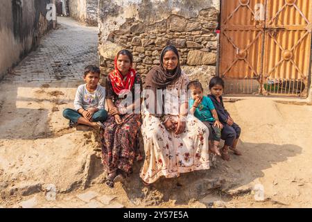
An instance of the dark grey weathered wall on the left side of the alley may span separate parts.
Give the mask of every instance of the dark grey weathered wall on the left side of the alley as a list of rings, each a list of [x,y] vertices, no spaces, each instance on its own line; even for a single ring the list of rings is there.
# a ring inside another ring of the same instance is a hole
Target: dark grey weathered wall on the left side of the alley
[[[51,1],[0,1],[0,79],[53,28],[53,21],[46,20],[46,6]]]

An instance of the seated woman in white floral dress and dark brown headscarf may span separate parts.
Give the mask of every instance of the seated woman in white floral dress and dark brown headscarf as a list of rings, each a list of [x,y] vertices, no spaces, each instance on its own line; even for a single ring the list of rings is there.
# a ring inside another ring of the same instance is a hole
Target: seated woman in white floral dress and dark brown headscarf
[[[166,46],[160,63],[148,72],[144,85],[141,133],[146,157],[140,176],[146,185],[161,176],[209,169],[209,130],[188,115],[189,80],[180,68],[177,49]]]

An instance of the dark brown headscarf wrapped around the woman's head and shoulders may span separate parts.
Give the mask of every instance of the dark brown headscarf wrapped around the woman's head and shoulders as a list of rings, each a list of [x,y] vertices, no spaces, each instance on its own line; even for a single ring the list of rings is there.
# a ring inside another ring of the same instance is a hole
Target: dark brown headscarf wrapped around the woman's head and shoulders
[[[164,55],[167,51],[173,51],[177,55],[177,67],[173,71],[167,71],[164,67]],[[160,65],[155,66],[146,75],[145,87],[152,87],[156,89],[164,89],[167,85],[173,83],[177,78],[181,76],[180,58],[179,53],[175,46],[166,46],[162,49],[162,53],[159,58]]]

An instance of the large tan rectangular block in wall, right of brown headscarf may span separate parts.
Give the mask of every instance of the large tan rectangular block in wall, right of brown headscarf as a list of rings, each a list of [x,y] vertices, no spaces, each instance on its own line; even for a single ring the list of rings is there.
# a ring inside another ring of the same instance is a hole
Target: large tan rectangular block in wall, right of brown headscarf
[[[187,54],[187,65],[213,65],[216,63],[216,53],[192,50]]]

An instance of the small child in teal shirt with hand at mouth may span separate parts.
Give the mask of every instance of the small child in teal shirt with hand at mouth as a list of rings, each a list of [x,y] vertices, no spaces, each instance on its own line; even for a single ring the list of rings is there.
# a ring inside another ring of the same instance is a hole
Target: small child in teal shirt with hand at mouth
[[[202,85],[198,80],[191,81],[187,86],[191,90],[191,98],[189,99],[189,108],[191,114],[202,121],[209,129],[209,151],[216,155],[221,155],[218,150],[218,144],[221,139],[222,123],[218,119],[218,114],[214,108],[214,104],[207,96],[203,96]]]

